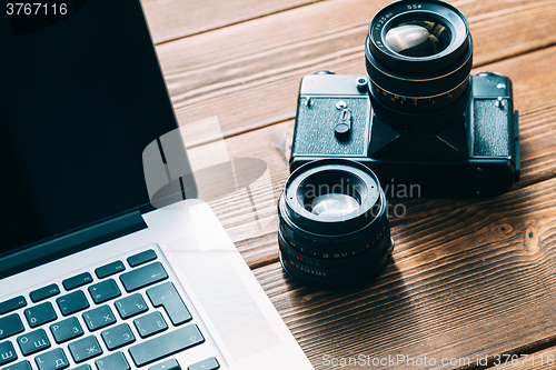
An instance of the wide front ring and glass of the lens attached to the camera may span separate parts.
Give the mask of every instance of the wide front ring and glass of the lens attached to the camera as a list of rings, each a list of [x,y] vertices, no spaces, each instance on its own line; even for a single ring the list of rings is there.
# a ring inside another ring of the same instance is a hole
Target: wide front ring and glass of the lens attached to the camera
[[[391,3],[369,23],[370,57],[406,76],[438,74],[466,60],[469,26],[455,7],[437,0]]]

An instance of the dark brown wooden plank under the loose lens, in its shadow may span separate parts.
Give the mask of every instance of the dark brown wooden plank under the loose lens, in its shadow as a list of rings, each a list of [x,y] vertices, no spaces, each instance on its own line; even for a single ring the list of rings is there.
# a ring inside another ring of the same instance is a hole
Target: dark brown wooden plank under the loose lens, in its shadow
[[[254,272],[316,369],[329,368],[325,356],[359,354],[474,364],[556,339],[555,187],[552,179],[396,230],[405,248],[365,289],[302,288],[279,263]],[[425,368],[396,364],[380,368]]]

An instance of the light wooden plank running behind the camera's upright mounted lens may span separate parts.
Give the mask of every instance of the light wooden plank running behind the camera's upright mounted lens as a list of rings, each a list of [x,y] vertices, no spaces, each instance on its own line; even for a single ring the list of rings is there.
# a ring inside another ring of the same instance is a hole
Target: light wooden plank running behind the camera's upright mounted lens
[[[158,47],[178,120],[218,116],[228,137],[292,119],[304,74],[365,72],[368,22],[388,2],[327,1]],[[454,3],[469,19],[476,66],[556,42],[554,1]]]

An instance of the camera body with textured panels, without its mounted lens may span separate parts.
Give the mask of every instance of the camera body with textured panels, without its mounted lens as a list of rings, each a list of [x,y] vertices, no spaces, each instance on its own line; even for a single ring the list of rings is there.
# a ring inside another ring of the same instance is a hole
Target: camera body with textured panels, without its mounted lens
[[[394,198],[396,186],[418,187],[419,197],[496,196],[518,180],[518,114],[508,78],[492,72],[470,76],[467,92],[458,99],[460,111],[453,109],[456,113],[441,127],[419,122],[434,128],[424,132],[386,121],[388,114],[377,117],[377,108],[387,108],[375,98],[383,92],[373,88],[367,74],[318,72],[302,78],[291,171],[321,158],[357,160],[378,176],[383,187],[391,186],[386,192]]]

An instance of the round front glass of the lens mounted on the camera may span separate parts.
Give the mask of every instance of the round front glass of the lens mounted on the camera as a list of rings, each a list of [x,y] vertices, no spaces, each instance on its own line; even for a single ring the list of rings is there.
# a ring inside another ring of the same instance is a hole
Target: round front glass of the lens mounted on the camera
[[[386,33],[386,44],[406,57],[435,56],[450,44],[449,29],[438,21],[413,20],[394,26]]]

